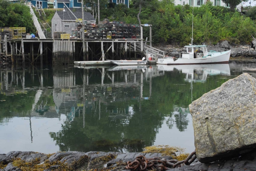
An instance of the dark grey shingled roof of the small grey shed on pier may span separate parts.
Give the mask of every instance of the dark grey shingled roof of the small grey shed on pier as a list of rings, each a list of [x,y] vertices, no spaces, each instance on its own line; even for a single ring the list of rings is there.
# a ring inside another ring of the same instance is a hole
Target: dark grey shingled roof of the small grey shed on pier
[[[69,8],[69,9],[74,13],[76,18],[78,19],[82,18],[82,9],[80,8]],[[65,12],[57,11],[57,14],[61,18],[61,20],[76,20],[75,16],[68,9],[65,9]],[[90,12],[84,12],[84,20],[96,21]]]

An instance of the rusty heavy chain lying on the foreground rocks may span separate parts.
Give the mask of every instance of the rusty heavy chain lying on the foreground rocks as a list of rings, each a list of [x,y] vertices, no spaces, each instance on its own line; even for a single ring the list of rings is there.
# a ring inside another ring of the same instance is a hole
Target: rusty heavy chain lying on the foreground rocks
[[[125,168],[127,170],[135,171],[146,171],[148,170],[155,170],[156,168],[159,168],[159,170],[171,170],[171,168],[175,167],[181,167],[184,163],[185,165],[190,165],[193,161],[196,159],[196,151],[193,151],[185,160],[166,160],[164,158],[150,158],[147,159],[143,155],[139,155],[136,157],[136,159],[133,162],[128,161],[127,166]]]

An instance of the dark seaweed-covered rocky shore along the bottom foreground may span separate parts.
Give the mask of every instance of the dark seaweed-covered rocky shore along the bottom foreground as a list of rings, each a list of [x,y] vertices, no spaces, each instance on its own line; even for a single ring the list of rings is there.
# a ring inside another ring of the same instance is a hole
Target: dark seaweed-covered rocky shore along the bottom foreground
[[[161,153],[120,153],[120,152],[57,152],[44,154],[31,151],[11,151],[0,154],[0,171],[124,171],[126,162],[134,161],[136,156],[146,158],[172,159]],[[231,158],[211,163],[201,163],[197,159],[190,166],[171,168],[173,171],[255,171],[256,150]]]

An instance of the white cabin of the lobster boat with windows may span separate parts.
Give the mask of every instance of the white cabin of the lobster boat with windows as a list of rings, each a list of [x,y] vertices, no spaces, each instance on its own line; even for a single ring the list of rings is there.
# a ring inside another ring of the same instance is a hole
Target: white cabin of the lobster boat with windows
[[[190,45],[185,46],[187,53],[182,54],[184,59],[193,59],[193,58],[206,58],[211,55],[208,54],[206,45]]]

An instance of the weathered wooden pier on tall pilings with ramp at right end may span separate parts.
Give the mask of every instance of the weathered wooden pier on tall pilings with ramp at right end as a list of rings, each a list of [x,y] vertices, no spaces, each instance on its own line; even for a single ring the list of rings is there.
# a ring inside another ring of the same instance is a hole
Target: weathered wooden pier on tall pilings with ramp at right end
[[[143,39],[14,39],[5,37],[0,54],[11,57],[13,64],[73,64],[74,61],[99,61],[104,51],[106,60],[142,58],[152,54],[154,59],[164,52],[143,43]],[[141,48],[143,46],[143,48]]]

